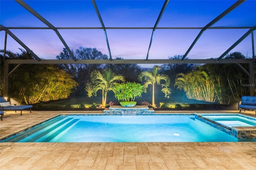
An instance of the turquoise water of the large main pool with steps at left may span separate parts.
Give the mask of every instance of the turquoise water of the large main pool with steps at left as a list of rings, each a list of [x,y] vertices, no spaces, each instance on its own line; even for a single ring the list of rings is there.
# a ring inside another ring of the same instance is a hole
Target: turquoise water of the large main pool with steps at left
[[[59,116],[1,142],[237,142],[194,115]],[[247,140],[251,141],[251,140]]]

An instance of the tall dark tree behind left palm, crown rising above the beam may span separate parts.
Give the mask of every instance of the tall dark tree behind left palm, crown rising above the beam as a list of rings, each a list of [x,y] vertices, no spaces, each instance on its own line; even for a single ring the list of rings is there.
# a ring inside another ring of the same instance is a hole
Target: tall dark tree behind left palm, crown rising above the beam
[[[106,54],[102,54],[96,48],[79,47],[74,55],[77,59],[108,59]],[[63,51],[56,58],[72,59],[66,48],[63,48]],[[79,95],[84,91],[86,81],[90,80],[90,73],[96,69],[102,70],[103,66],[102,64],[62,64],[61,67],[78,82],[77,94]]]

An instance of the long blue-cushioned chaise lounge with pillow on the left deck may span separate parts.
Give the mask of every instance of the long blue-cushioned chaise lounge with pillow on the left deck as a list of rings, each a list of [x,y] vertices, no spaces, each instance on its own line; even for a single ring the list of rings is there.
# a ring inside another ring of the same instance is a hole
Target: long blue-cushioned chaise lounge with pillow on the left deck
[[[4,111],[20,111],[20,115],[22,115],[22,110],[30,109],[33,107],[32,105],[11,105],[10,102],[7,102],[4,97],[0,97],[0,106]],[[1,116],[2,117],[2,116]]]

